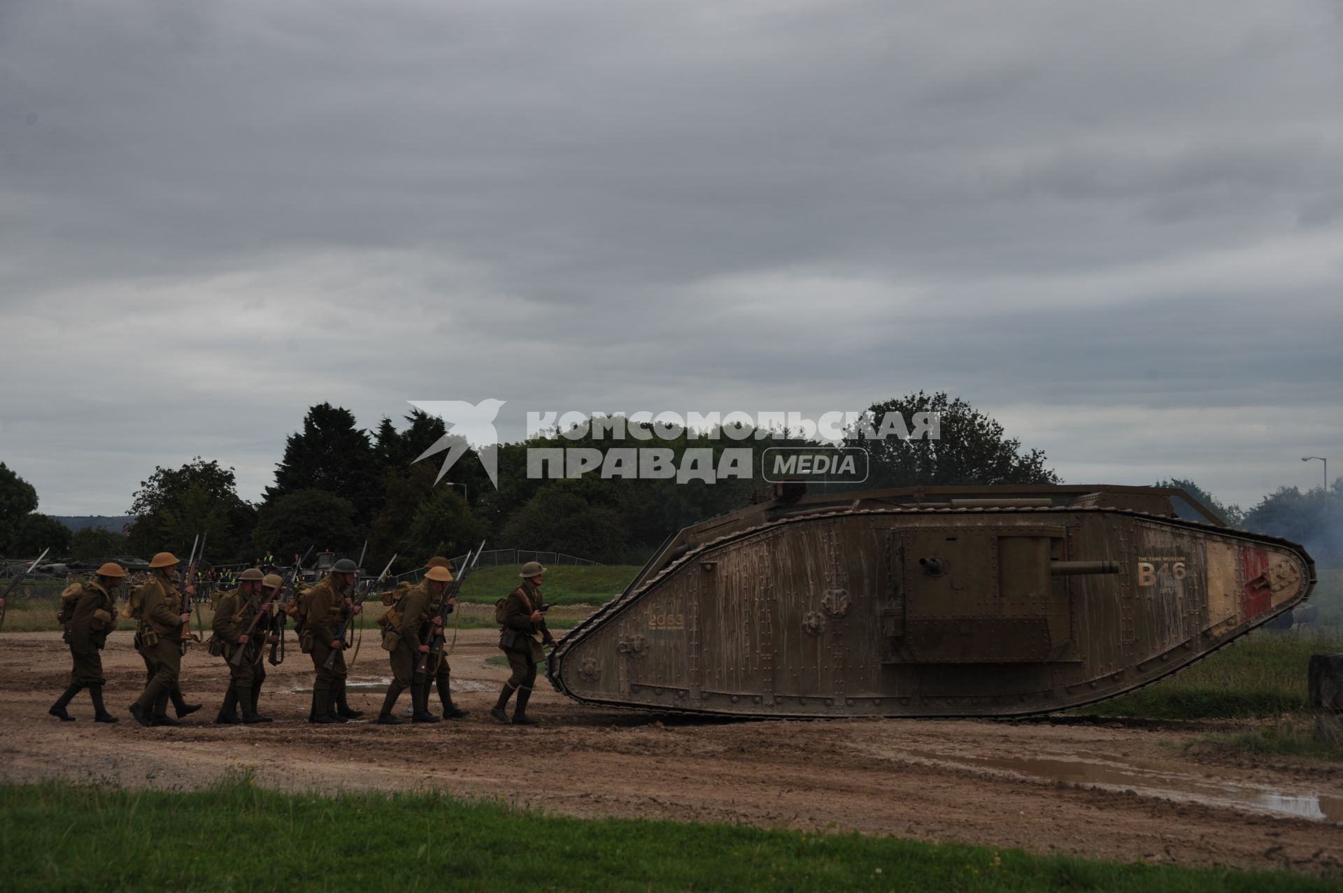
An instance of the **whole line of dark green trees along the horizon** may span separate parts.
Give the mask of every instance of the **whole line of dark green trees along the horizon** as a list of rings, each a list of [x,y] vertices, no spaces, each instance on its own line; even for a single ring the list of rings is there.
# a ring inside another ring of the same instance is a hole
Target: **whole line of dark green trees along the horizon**
[[[898,412],[907,419],[937,412],[940,439],[866,440],[850,431],[845,443],[865,446],[870,455],[870,475],[861,489],[1060,482],[1044,451],[1025,450],[998,422],[959,397],[917,392],[874,403],[869,411],[876,418]],[[187,551],[196,533],[204,532],[207,559],[214,563],[250,563],[267,553],[285,561],[309,545],[355,553],[367,541],[371,556],[399,553],[404,557],[398,569],[408,569],[427,555],[461,555],[488,538],[497,548],[638,564],[670,533],[747,505],[763,483],[749,478],[678,483],[596,473],[571,479],[528,477],[529,449],[611,446],[588,430],[582,436],[549,431],[498,444],[497,489],[474,450],[453,466],[451,483],[435,485],[438,459],[415,459],[445,432],[441,419],[419,410],[406,415],[400,427],[383,418],[365,430],[351,411],[321,403],[286,438],[274,485],[259,502],[243,500],[234,469],[216,459],[196,457],[176,469],[158,466],[134,493],[126,536],[98,528],[71,532],[38,513],[34,487],[0,463],[0,551],[19,556],[51,547],[52,555],[91,561],[146,556],[163,548]],[[682,431],[672,439],[657,436],[653,444],[672,450],[677,462],[692,447],[712,447],[716,459],[727,447],[748,447],[752,467],[759,469],[768,447],[817,443],[788,431],[766,439],[745,434],[704,439]],[[1309,493],[1283,487],[1241,512],[1193,481],[1158,482],[1183,486],[1233,526],[1304,543],[1326,565],[1343,563],[1340,483]]]

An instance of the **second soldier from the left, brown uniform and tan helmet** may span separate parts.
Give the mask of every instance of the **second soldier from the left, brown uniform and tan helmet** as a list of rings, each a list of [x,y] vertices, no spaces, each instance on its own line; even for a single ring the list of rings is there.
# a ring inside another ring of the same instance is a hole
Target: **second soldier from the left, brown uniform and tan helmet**
[[[191,620],[187,604],[191,587],[187,594],[177,590],[179,564],[172,552],[160,552],[150,559],[149,579],[140,594],[136,649],[149,669],[144,693],[130,705],[130,714],[140,725],[177,725],[177,720],[168,716],[169,698],[173,700],[179,717],[200,709],[199,704],[180,702],[181,688],[177,678],[185,650],[181,628]]]

